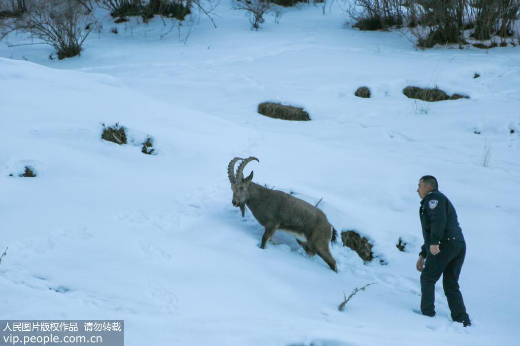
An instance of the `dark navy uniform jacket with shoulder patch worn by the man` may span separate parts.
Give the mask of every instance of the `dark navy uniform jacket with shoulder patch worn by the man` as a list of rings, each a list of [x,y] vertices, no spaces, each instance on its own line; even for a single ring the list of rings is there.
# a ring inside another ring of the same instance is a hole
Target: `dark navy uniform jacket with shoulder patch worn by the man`
[[[439,190],[428,192],[421,201],[419,209],[424,244],[420,255],[426,258],[430,245],[441,244],[445,241],[464,243],[462,229],[459,226],[457,212],[449,199]]]

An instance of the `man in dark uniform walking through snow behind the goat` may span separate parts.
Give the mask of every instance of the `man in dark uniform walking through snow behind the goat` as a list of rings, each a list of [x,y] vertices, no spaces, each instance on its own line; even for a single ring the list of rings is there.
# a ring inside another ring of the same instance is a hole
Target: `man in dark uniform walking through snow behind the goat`
[[[421,312],[426,316],[435,316],[435,283],[443,275],[444,294],[448,299],[451,318],[464,327],[470,326],[470,316],[466,313],[458,282],[466,243],[457,212],[448,198],[439,192],[435,177],[423,176],[417,192],[422,199],[419,215],[424,237],[417,261],[417,270],[421,272]]]

